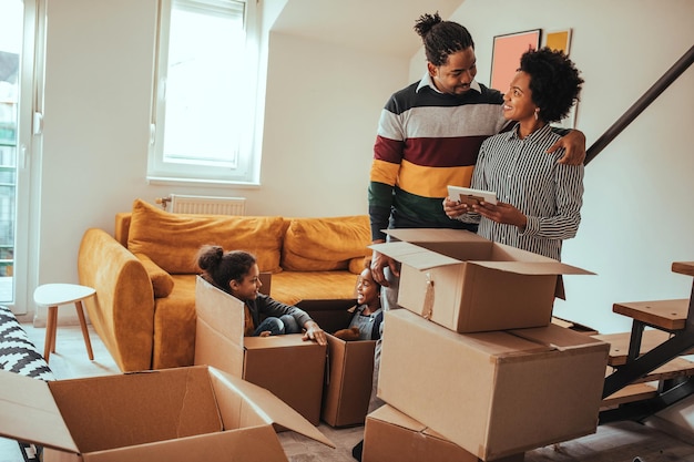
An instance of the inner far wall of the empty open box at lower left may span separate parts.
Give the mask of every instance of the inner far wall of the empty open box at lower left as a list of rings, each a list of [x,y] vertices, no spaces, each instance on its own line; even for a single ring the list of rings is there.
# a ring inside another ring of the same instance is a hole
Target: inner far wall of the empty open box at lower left
[[[81,453],[223,428],[203,367],[55,380],[49,388]]]

